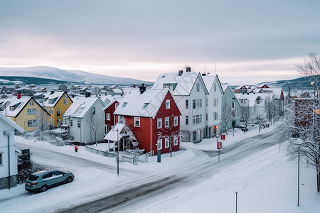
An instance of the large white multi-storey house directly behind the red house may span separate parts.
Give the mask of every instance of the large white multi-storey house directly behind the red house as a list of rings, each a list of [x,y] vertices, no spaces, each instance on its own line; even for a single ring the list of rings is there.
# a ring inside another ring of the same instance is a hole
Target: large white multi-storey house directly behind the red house
[[[208,91],[200,72],[179,70],[159,75],[152,89],[169,88],[174,96],[181,117],[182,141],[202,141],[206,129],[206,94]]]

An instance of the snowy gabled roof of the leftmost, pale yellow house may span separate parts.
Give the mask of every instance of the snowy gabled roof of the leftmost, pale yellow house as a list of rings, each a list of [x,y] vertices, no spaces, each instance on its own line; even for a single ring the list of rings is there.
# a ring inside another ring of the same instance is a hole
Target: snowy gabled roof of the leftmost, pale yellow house
[[[31,99],[33,100],[33,102],[38,104],[38,106],[41,107],[41,109],[46,111],[46,109],[44,109],[41,106],[41,104],[39,104],[35,99],[33,99],[33,97],[23,96],[20,99],[16,99],[16,98],[10,99],[11,103],[9,104],[8,107],[6,107],[6,109],[4,111],[2,111],[2,113],[4,113],[6,116],[17,117],[21,113],[21,111],[24,109],[24,107],[26,107],[28,102],[31,101]],[[14,107],[14,110],[10,110],[10,107]],[[50,116],[48,111],[46,111],[46,113]]]

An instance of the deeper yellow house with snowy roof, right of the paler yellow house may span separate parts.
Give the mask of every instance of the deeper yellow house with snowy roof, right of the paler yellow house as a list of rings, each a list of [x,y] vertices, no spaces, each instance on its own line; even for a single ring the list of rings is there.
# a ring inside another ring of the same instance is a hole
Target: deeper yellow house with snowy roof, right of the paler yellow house
[[[63,124],[63,114],[71,104],[73,104],[73,101],[67,92],[47,92],[44,97],[43,107],[50,113],[50,121],[53,126],[57,127],[58,124]]]

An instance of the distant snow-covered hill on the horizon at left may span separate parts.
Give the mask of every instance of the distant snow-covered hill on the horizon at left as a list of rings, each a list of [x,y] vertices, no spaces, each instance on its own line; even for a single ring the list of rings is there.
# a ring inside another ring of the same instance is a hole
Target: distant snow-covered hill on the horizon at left
[[[38,77],[43,79],[58,80],[79,84],[153,84],[141,80],[130,78],[111,77],[107,75],[97,75],[80,70],[61,70],[55,67],[0,67],[0,76],[11,77]],[[1,78],[1,77],[0,77]],[[36,82],[35,82],[36,83]]]

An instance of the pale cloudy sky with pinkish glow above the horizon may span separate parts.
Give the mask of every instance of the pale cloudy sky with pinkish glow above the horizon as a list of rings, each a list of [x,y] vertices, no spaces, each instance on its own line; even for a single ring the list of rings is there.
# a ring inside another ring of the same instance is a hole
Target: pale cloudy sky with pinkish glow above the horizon
[[[156,80],[186,66],[221,82],[299,77],[320,52],[319,0],[1,0],[0,67]]]

